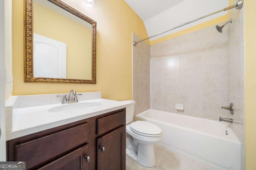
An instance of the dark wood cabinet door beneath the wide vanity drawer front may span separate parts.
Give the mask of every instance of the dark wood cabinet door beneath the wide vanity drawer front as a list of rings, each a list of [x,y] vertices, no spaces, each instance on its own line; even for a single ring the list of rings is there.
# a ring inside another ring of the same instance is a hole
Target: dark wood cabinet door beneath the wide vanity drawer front
[[[42,168],[39,168],[39,170],[88,170],[89,159],[85,158],[88,154],[89,144],[62,156]]]

